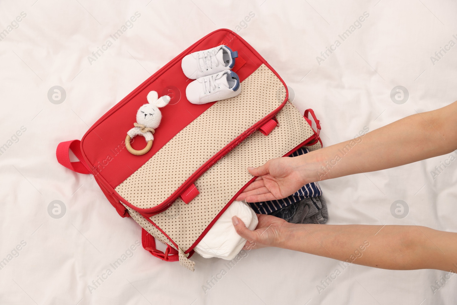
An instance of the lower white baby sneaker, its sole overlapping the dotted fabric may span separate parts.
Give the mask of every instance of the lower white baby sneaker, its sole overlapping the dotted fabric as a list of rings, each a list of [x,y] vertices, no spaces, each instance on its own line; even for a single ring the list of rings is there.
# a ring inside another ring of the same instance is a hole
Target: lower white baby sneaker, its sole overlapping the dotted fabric
[[[187,100],[192,104],[216,102],[240,93],[239,77],[230,70],[197,78],[186,88]]]

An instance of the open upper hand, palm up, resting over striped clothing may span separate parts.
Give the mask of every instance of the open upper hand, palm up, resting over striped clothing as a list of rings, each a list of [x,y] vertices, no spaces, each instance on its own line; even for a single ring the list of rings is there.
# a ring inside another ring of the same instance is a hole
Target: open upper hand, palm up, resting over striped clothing
[[[271,159],[259,167],[249,167],[251,175],[258,176],[236,200],[259,202],[286,198],[305,185],[300,167],[302,156]]]

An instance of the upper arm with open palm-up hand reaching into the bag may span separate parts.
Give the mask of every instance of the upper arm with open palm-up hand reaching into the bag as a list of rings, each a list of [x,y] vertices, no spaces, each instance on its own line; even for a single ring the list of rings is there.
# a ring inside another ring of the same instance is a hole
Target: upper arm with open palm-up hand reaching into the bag
[[[457,149],[457,102],[416,113],[360,138],[293,158],[272,159],[249,171],[259,178],[237,200],[285,198],[309,183],[379,171]]]

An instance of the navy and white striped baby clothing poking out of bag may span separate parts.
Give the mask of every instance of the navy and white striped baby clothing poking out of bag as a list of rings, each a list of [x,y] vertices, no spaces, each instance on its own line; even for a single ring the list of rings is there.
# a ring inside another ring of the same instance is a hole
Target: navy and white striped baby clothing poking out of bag
[[[308,153],[309,150],[305,147],[302,147],[289,155],[289,157],[296,157],[298,155],[303,155]],[[311,182],[304,185],[297,192],[293,193],[287,198],[279,200],[270,200],[263,202],[250,202],[250,207],[254,210],[256,214],[272,214],[279,209],[285,208],[292,203],[303,200],[304,198],[313,198],[322,195],[322,191],[317,182]]]

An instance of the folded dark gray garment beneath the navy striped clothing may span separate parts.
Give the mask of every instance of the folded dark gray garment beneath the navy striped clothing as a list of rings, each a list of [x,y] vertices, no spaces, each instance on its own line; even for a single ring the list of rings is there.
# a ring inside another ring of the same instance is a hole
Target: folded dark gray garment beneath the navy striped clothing
[[[324,197],[304,198],[279,209],[271,215],[282,218],[291,224],[325,224],[329,213]]]

